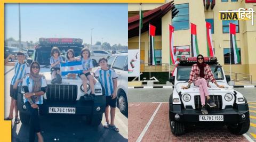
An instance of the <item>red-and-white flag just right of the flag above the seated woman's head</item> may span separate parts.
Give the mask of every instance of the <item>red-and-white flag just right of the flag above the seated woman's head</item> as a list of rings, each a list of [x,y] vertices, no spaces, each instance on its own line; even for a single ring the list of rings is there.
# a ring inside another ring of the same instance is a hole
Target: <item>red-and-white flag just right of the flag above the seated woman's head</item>
[[[214,56],[211,23],[206,22],[207,55]]]

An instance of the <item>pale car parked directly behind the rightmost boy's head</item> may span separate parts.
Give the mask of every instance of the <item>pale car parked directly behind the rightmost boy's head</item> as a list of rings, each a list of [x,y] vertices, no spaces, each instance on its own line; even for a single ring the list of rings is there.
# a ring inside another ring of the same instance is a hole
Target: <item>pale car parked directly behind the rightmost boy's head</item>
[[[111,53],[107,52],[107,51],[103,51],[103,50],[91,50],[91,59],[93,62],[93,66],[97,66],[99,59],[101,59],[102,57],[110,57]]]

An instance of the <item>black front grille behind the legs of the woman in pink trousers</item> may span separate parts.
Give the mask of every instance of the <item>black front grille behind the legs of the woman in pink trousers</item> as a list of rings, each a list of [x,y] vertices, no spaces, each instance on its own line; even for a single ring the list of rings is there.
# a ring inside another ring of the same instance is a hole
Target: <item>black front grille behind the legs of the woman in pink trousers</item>
[[[219,111],[222,108],[222,97],[221,95],[215,96],[215,95],[210,95],[210,98],[213,100],[213,102],[217,105],[215,107],[210,107],[207,105],[207,101],[205,98],[205,106],[207,107],[208,111]],[[195,96],[195,107],[196,110],[201,110],[202,104],[201,104],[201,99],[200,96]]]

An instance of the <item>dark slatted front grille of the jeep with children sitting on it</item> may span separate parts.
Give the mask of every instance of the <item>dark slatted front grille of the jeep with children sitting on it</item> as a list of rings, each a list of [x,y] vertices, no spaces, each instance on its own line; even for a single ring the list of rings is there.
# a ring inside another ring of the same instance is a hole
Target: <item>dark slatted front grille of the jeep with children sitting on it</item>
[[[47,101],[73,102],[77,98],[76,85],[47,85]]]

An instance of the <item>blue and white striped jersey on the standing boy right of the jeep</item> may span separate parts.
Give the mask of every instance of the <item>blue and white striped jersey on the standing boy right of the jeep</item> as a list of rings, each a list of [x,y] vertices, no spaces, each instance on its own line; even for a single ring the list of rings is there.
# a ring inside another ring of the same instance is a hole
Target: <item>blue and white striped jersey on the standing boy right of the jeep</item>
[[[115,70],[98,68],[94,73],[96,77],[99,77],[99,81],[105,89],[106,96],[111,96],[114,93],[114,79],[117,78]]]

